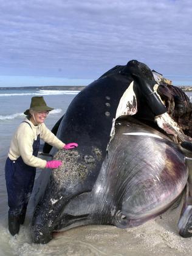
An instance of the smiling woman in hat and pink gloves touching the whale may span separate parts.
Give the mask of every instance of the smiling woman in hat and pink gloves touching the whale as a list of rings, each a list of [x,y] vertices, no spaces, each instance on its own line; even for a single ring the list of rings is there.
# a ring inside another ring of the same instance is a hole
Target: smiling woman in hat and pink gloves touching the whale
[[[75,148],[76,143],[64,144],[44,125],[44,120],[52,111],[43,97],[32,97],[30,108],[24,114],[27,118],[16,130],[5,164],[5,179],[9,204],[9,231],[15,235],[24,223],[27,204],[32,193],[36,167],[58,168],[61,161],[46,161],[37,157],[40,139],[65,150]]]

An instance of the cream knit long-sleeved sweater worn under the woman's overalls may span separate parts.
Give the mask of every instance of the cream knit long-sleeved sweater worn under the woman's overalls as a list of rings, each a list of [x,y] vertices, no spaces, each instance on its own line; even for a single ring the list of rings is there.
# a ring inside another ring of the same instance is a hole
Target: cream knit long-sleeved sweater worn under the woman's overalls
[[[19,125],[13,135],[8,156],[12,161],[15,161],[21,156],[22,160],[27,165],[45,168],[47,161],[33,156],[33,141],[37,139],[38,134],[40,134],[40,139],[58,149],[63,148],[65,144],[59,140],[44,123],[35,126],[28,119],[24,121],[30,123],[32,128],[25,122]]]

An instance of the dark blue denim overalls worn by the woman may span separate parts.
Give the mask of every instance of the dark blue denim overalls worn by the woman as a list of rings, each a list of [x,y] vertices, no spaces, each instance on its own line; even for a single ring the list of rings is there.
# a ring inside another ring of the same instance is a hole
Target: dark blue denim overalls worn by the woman
[[[25,122],[28,123],[28,122]],[[30,125],[30,123],[28,123]],[[31,127],[31,125],[30,125]],[[31,127],[32,128],[32,127]],[[33,156],[38,155],[39,135],[33,142]],[[32,194],[36,168],[24,163],[22,157],[12,161],[7,158],[5,164],[5,179],[7,186],[9,215],[21,215],[26,211],[30,195]]]

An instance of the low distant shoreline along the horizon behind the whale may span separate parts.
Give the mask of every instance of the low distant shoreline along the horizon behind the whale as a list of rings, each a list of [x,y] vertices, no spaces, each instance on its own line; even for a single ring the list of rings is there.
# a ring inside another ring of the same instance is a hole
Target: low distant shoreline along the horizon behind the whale
[[[180,89],[182,89],[183,91],[186,92],[191,92],[192,91],[192,86],[177,86]],[[55,90],[55,91],[81,91],[84,88],[86,88],[86,86],[84,85],[77,85],[77,86],[73,86],[73,85],[66,85],[66,86],[22,86],[22,87],[0,87],[0,90],[23,90],[23,89],[36,89],[36,90]]]

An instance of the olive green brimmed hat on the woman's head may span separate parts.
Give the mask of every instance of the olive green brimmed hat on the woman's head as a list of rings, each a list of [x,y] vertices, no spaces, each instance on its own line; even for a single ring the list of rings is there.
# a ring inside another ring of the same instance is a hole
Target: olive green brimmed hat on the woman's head
[[[44,101],[43,97],[32,97],[32,102],[30,103],[30,108],[34,111],[52,111],[53,108],[47,106],[46,102]],[[27,109],[24,114],[29,114],[29,109]]]

